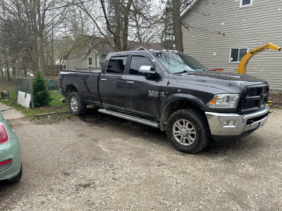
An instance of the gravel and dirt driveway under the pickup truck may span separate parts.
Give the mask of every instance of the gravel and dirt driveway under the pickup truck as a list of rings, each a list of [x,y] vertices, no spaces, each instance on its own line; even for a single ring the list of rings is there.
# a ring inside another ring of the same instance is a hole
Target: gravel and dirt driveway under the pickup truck
[[[282,110],[262,129],[196,155],[159,129],[102,113],[16,120],[23,178],[0,210],[281,210]]]

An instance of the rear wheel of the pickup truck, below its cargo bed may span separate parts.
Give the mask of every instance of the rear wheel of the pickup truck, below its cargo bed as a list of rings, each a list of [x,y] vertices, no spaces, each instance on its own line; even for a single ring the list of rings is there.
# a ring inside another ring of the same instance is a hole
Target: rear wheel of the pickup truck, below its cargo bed
[[[86,113],[86,104],[82,102],[77,91],[71,92],[70,96],[68,96],[68,108],[75,116],[81,116]]]

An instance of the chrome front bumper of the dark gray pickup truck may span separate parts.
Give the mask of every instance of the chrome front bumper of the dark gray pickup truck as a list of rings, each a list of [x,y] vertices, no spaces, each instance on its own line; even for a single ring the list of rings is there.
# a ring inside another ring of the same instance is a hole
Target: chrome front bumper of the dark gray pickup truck
[[[212,136],[240,136],[262,127],[267,120],[269,106],[255,113],[238,115],[237,113],[205,112]],[[249,121],[248,121],[249,120]]]

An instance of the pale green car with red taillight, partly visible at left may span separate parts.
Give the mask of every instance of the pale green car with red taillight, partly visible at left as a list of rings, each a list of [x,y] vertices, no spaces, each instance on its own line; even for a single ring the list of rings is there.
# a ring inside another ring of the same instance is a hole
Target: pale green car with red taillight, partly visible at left
[[[23,174],[18,136],[0,113],[0,180],[18,181]]]

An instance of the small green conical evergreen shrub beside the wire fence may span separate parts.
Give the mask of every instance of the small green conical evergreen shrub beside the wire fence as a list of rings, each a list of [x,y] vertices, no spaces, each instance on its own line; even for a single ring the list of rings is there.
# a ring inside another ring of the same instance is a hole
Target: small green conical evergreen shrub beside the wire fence
[[[52,98],[44,82],[41,72],[36,73],[35,81],[32,83],[33,103],[35,108],[48,106]]]

